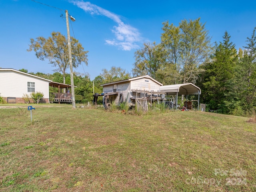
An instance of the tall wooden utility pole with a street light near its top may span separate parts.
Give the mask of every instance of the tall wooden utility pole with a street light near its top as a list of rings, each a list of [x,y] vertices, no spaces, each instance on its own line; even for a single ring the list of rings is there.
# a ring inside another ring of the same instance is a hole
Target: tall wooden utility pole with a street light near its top
[[[73,77],[73,66],[72,66],[72,52],[71,52],[71,43],[70,43],[70,32],[69,32],[69,22],[68,22],[68,10],[66,12],[66,23],[67,23],[67,32],[68,32],[68,56],[69,56],[69,67],[70,67],[70,82],[71,82],[71,95],[72,95],[72,107],[76,108],[75,100],[75,90],[74,90],[74,77]],[[70,19],[75,21],[76,19],[70,15]]]

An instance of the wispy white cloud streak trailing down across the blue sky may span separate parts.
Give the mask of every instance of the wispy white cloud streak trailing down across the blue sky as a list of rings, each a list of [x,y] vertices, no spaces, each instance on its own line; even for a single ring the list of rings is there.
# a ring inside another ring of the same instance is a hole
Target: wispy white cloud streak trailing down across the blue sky
[[[140,42],[141,40],[140,33],[136,28],[124,24],[118,15],[97,5],[91,4],[90,2],[72,1],[72,3],[79,8],[82,8],[85,12],[89,12],[92,15],[106,16],[117,23],[117,26],[114,26],[112,29],[115,38],[112,40],[105,40],[106,44],[117,46],[122,50],[127,51],[139,47],[136,42]]]

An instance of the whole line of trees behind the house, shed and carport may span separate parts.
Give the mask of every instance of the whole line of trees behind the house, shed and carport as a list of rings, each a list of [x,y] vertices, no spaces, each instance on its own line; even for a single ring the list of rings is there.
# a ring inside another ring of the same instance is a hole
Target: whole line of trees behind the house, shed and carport
[[[221,42],[212,44],[200,18],[182,20],[178,26],[163,22],[160,43],[145,42],[136,50],[131,72],[112,66],[110,70],[102,69],[94,80],[90,80],[88,74],[75,73],[75,94],[82,96],[82,102],[91,102],[93,84],[94,93],[100,93],[100,84],[148,74],[164,85],[191,82],[199,86],[202,91],[200,101],[208,110],[244,115],[256,109],[255,30],[245,40],[243,49],[236,50],[227,31]],[[72,38],[72,42],[74,68],[82,62],[87,65],[88,51],[84,51],[78,40]],[[34,50],[41,60],[48,59],[57,71],[35,75],[69,84],[66,38],[59,32],[52,32],[52,37],[38,37],[30,43],[28,51]]]

